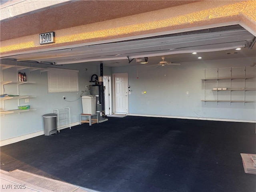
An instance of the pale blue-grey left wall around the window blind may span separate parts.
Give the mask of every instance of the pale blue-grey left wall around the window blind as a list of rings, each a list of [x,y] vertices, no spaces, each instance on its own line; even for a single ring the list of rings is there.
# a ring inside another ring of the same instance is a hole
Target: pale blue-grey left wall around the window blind
[[[9,60],[1,60],[1,64],[12,64],[16,65],[16,62]],[[30,108],[35,108],[35,111],[31,112],[22,112],[20,114],[6,114],[5,116],[1,115],[1,132],[0,140],[6,140],[8,138],[14,138],[17,136],[22,136],[26,134],[31,134],[34,132],[39,132],[44,130],[43,118],[42,115],[52,112],[52,109],[63,109],[63,107],[70,107],[71,123],[79,122],[79,114],[82,113],[82,101],[80,95],[82,91],[88,88],[85,86],[93,84],[90,81],[92,74],[100,74],[100,64],[72,64],[72,65],[63,65],[63,66],[53,66],[53,65],[44,65],[44,64],[34,64],[29,62],[19,62],[19,65],[23,66],[35,66],[35,67],[57,67],[57,68],[68,68],[79,70],[78,73],[78,92],[65,92],[65,93],[49,93],[48,94],[48,85],[47,85],[47,72],[33,71],[25,69],[21,72],[26,72],[27,81],[36,82],[35,84],[22,84],[19,86],[20,95],[33,95],[36,98],[29,98],[30,102],[27,103],[30,105]],[[104,67],[106,72],[110,72],[111,69]],[[17,69],[8,68],[3,71],[4,80],[16,81],[17,78]],[[6,94],[16,94],[17,88],[16,84],[5,85]],[[84,93],[83,95],[85,95]],[[63,96],[66,97],[67,102],[63,100]],[[78,99],[78,100],[77,100]],[[1,101],[2,102],[2,101]],[[17,100],[6,100],[6,106],[16,107],[18,106]],[[20,104],[25,104],[25,100],[21,99]],[[10,108],[12,109],[12,108]]]

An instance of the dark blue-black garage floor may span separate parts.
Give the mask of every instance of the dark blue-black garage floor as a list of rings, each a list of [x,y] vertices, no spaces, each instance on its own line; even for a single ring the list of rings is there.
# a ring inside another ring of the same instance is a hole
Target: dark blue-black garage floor
[[[255,124],[127,116],[1,147],[1,169],[101,192],[254,192]]]

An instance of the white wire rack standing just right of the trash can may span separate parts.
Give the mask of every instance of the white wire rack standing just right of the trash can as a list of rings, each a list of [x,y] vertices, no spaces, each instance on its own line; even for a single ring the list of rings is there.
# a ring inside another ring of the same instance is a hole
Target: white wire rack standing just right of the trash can
[[[70,122],[70,108],[64,107],[63,109],[52,109],[52,113],[57,114],[57,120],[58,120],[58,131],[60,132],[61,127],[66,127],[66,125],[69,125],[69,128],[71,129],[71,122]],[[66,123],[68,121],[68,123]],[[62,123],[60,123],[62,122]]]

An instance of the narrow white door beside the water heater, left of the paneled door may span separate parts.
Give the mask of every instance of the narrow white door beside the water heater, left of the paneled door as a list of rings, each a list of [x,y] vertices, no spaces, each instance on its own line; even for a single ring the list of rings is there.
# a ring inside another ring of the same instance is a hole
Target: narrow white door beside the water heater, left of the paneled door
[[[103,85],[105,87],[105,115],[111,112],[111,76],[103,76]]]

